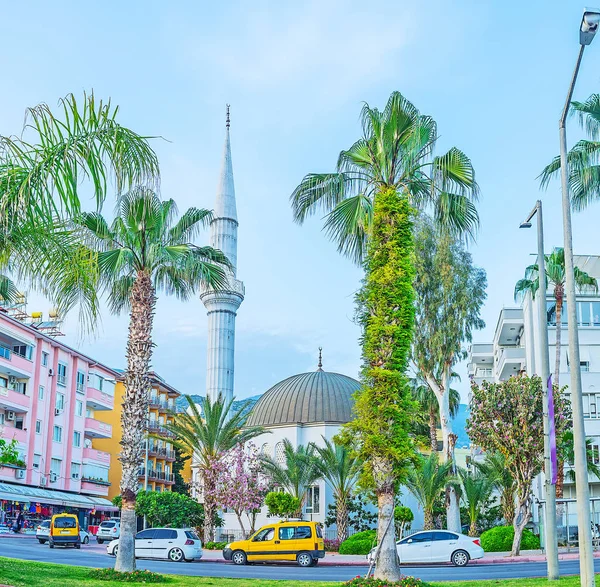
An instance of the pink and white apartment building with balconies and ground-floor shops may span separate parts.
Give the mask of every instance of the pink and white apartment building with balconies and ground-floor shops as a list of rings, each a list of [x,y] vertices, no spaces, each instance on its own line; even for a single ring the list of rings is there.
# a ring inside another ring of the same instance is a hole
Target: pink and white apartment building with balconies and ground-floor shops
[[[25,462],[0,467],[0,523],[70,509],[87,526],[113,509],[110,454],[94,448],[112,427],[94,416],[113,409],[118,373],[44,330],[0,311],[0,438],[16,439]]]

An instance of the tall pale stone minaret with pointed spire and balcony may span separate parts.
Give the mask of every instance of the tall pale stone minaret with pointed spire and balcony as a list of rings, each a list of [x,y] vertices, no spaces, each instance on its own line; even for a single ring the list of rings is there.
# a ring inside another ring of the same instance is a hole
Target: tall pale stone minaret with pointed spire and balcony
[[[206,352],[206,395],[216,400],[222,394],[233,398],[233,371],[235,351],[235,316],[244,301],[244,284],[238,281],[237,271],[237,212],[231,144],[229,139],[229,104],[225,124],[225,148],[221,177],[217,188],[214,218],[210,224],[210,244],[220,249],[231,262],[228,287],[224,291],[206,289],[200,294],[208,315],[208,344]]]

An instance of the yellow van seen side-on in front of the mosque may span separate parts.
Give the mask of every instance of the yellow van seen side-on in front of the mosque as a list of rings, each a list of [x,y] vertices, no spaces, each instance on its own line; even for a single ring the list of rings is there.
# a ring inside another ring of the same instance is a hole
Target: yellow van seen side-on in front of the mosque
[[[236,565],[257,561],[296,561],[314,567],[325,556],[321,527],[317,522],[285,520],[263,526],[248,540],[231,542],[223,558]]]

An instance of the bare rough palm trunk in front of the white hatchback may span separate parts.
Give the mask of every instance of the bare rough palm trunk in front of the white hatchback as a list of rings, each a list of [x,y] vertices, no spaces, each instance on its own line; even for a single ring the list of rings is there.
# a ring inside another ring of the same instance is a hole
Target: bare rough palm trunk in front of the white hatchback
[[[150,275],[139,272],[131,290],[131,313],[127,340],[127,372],[125,399],[121,412],[121,535],[115,570],[135,570],[134,536],[137,531],[135,500],[138,472],[143,460],[146,418],[148,416],[148,371],[152,358],[152,322],[156,295]]]

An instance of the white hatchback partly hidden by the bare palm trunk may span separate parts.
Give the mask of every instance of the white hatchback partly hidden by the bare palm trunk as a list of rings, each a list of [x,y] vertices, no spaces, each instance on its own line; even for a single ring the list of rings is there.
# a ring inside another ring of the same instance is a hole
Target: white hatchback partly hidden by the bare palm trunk
[[[117,556],[118,549],[119,541],[113,540],[106,552]],[[135,535],[135,557],[192,562],[202,558],[202,542],[194,530],[149,528]]]

